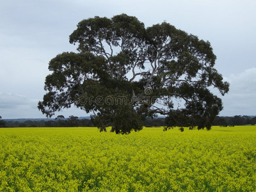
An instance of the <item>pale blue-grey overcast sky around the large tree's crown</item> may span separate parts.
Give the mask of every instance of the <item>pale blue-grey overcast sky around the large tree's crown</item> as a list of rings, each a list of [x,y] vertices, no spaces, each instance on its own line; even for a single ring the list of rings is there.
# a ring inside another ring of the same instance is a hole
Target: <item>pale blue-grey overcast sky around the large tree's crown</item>
[[[68,36],[79,21],[120,13],[146,27],[166,21],[209,40],[215,68],[230,83],[220,115],[256,115],[255,10],[255,0],[0,0],[0,115],[44,118],[37,103],[45,94],[49,61],[76,51]],[[56,115],[88,116],[79,109]]]

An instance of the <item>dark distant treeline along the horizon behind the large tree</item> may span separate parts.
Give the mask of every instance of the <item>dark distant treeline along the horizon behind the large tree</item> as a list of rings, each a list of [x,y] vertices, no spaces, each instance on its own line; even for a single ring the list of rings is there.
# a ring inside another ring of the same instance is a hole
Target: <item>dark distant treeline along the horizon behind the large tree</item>
[[[216,116],[213,125],[223,127],[234,125],[255,125],[256,116]],[[165,126],[164,118],[147,118],[143,123],[146,127]],[[54,120],[0,120],[0,127],[93,127],[95,126],[92,120],[88,118],[78,118],[77,116],[70,116],[64,118],[58,116]],[[179,126],[179,125],[178,125]]]

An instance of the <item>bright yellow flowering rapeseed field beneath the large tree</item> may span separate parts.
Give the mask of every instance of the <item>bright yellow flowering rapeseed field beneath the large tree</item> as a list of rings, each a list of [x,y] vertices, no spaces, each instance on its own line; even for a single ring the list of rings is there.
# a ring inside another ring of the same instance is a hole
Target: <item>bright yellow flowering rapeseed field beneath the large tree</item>
[[[256,126],[0,129],[0,191],[256,191]]]

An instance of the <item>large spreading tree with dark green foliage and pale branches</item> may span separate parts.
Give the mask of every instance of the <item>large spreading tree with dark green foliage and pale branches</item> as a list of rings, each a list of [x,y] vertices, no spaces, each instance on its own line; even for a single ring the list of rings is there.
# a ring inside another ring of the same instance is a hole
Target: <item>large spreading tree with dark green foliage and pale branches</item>
[[[72,105],[101,131],[139,131],[148,116],[166,116],[166,125],[211,124],[223,109],[229,84],[214,68],[209,42],[163,22],[145,28],[125,14],[84,19],[70,35],[77,52],[63,52],[49,62],[47,93],[38,102],[46,116]],[[178,106],[174,101],[178,101]]]

